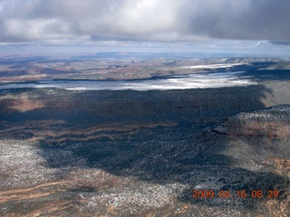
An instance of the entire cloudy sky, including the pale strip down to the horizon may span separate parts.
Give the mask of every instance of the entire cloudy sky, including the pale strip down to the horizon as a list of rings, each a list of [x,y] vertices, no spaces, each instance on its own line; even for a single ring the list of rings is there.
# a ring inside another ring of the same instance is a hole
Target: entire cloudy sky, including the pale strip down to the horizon
[[[289,9],[289,0],[0,0],[0,52],[287,55]]]

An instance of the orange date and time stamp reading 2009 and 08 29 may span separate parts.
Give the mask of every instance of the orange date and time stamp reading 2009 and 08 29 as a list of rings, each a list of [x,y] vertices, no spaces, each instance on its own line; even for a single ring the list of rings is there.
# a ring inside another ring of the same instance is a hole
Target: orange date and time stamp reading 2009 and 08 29
[[[237,190],[236,192],[230,192],[225,190],[219,190],[215,192],[212,189],[209,190],[193,190],[192,198],[193,199],[207,199],[207,198],[268,198],[276,199],[279,197],[279,192],[277,190]]]

